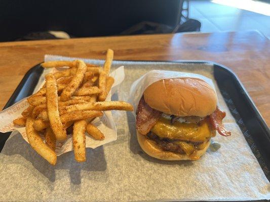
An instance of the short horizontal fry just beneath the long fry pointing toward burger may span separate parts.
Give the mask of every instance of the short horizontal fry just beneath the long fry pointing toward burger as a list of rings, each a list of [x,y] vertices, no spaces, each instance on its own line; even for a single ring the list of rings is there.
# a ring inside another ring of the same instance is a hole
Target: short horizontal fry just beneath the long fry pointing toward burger
[[[66,123],[69,121],[76,121],[76,120],[81,120],[81,119],[100,117],[102,115],[103,115],[103,113],[100,111],[86,110],[86,111],[76,111],[76,112],[71,112],[68,114],[63,114],[60,116],[60,119],[61,119],[62,123]]]

